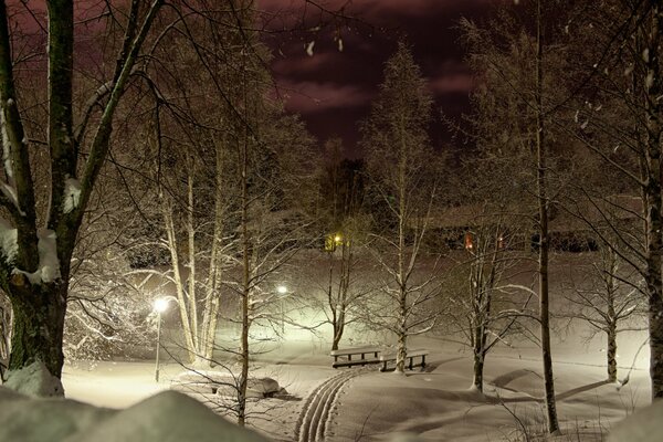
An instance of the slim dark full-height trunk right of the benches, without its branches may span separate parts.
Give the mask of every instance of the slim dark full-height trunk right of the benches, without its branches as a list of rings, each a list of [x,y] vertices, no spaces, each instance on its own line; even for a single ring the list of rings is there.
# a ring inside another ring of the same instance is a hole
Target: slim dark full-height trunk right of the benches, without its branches
[[[548,423],[548,432],[556,433],[559,431],[557,421],[557,409],[555,404],[555,381],[552,377],[552,356],[550,352],[550,318],[549,318],[549,299],[548,299],[548,188],[547,188],[547,155],[545,147],[545,128],[544,128],[544,104],[543,104],[543,86],[544,86],[544,44],[541,32],[541,0],[537,2],[537,51],[536,51],[536,150],[537,150],[537,191],[539,206],[539,319],[540,319],[540,338],[541,338],[541,358],[544,362],[544,385],[546,390],[546,414]]]

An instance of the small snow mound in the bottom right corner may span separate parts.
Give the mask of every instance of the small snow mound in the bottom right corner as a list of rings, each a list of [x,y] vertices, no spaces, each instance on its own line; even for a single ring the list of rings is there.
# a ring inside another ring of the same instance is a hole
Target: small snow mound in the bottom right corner
[[[660,442],[663,435],[663,400],[638,410],[614,425],[608,434],[609,442]]]

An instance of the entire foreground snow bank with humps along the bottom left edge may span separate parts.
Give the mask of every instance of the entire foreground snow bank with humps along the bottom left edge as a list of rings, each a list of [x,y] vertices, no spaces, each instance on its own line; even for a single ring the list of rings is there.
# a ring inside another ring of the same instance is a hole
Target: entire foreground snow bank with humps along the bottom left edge
[[[69,399],[31,399],[0,387],[1,441],[267,442],[173,391],[122,411]]]

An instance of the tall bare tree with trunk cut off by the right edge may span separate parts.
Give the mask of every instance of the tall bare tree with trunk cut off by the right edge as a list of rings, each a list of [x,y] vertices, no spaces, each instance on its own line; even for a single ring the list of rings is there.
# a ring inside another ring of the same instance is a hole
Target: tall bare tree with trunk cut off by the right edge
[[[610,166],[610,173],[620,183],[618,190],[641,200],[641,204],[633,208],[586,191],[597,207],[607,203],[641,220],[641,230],[624,232],[613,227],[610,231],[619,239],[613,248],[615,253],[644,280],[652,397],[659,398],[663,397],[660,161],[663,126],[659,99],[663,88],[662,10],[656,1],[604,0],[591,7],[577,20],[581,28],[571,30],[578,40],[592,42],[591,48],[579,44],[573,53],[578,65],[573,80],[582,92],[579,94],[582,102],[576,103],[575,135],[600,160],[600,167]],[[610,217],[609,212],[604,213],[603,223],[610,225]],[[633,234],[639,231],[641,233]],[[611,245],[610,241],[606,243]]]

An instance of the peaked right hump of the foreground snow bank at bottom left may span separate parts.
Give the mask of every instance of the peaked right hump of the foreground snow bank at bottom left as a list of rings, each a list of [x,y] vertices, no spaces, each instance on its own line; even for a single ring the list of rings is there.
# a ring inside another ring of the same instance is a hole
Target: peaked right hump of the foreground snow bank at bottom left
[[[214,414],[196,399],[164,391],[67,442],[267,442],[257,433]]]

